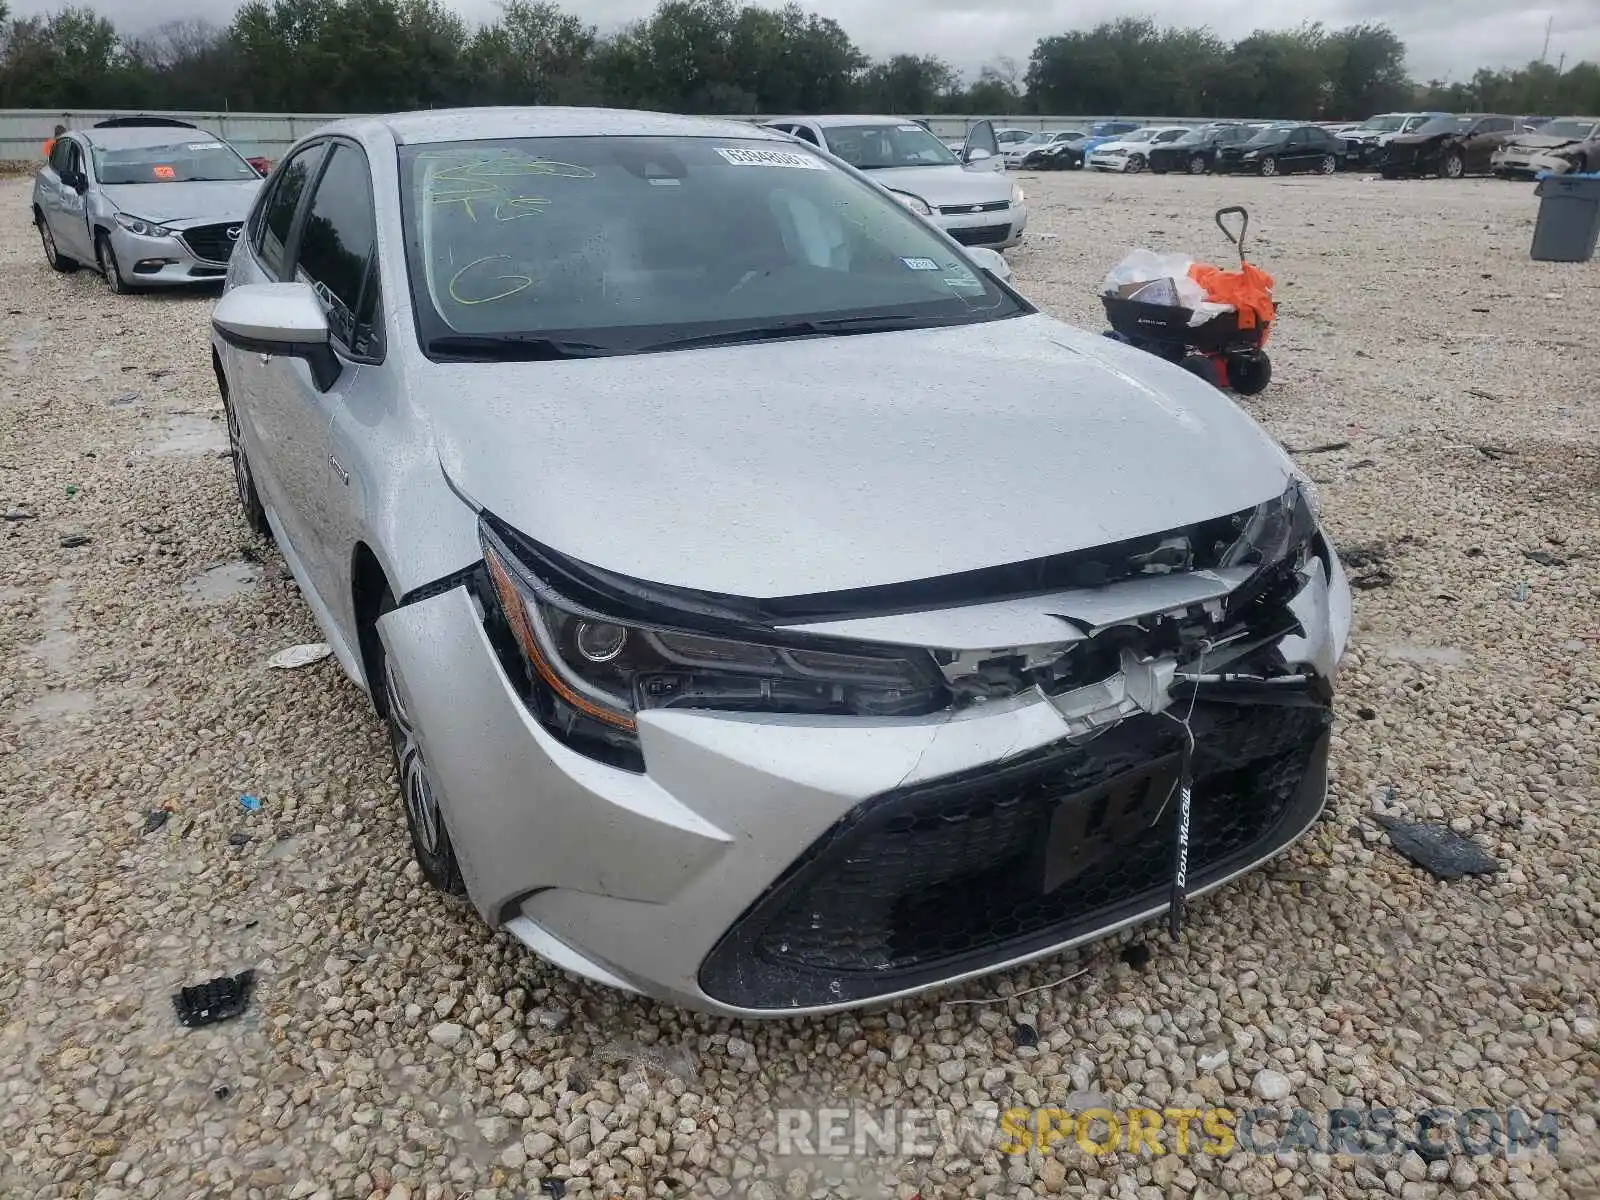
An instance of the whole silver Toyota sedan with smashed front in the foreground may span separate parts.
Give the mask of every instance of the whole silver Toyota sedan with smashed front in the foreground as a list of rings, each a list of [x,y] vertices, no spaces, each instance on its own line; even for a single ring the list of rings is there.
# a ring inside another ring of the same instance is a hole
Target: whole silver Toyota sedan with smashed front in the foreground
[[[294,147],[218,382],[429,880],[794,1014],[1176,922],[1310,826],[1350,594],[1309,483],[994,258],[741,123]]]

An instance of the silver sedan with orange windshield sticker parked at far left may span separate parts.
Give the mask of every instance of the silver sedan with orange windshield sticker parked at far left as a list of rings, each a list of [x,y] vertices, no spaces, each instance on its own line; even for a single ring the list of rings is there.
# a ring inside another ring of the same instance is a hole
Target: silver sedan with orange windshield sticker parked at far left
[[[56,270],[90,264],[115,293],[218,283],[261,174],[213,133],[122,118],[61,134],[34,176],[34,224]]]

